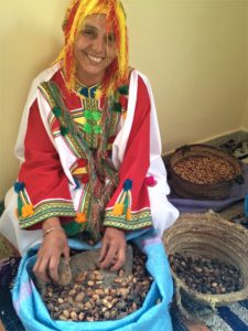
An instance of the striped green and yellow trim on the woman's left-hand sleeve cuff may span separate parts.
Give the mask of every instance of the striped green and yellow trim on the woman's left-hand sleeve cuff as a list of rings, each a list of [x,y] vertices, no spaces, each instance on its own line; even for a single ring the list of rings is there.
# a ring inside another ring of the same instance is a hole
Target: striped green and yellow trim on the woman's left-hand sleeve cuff
[[[60,200],[53,200],[50,202],[45,201],[44,203],[35,205],[33,211],[34,214],[32,216],[25,218],[22,216],[19,217],[21,228],[29,227],[48,217],[74,217],[76,214],[72,202],[64,202]]]

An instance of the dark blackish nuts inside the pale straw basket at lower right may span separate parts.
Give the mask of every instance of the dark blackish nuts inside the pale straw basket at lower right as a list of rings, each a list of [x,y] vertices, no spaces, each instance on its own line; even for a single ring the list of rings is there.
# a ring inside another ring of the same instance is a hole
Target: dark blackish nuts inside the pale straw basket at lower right
[[[244,287],[240,271],[217,258],[192,257],[175,253],[169,256],[169,260],[176,276],[188,288],[198,292],[224,295]]]

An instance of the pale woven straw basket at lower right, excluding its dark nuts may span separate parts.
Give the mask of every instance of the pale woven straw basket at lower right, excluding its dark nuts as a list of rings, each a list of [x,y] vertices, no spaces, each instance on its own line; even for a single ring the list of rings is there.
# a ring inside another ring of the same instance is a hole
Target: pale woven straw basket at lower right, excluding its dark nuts
[[[234,265],[244,280],[244,288],[225,295],[205,295],[191,289],[171,270],[176,288],[176,299],[181,311],[181,290],[190,298],[212,309],[248,298],[248,231],[233,224],[217,214],[182,214],[163,235],[168,255],[184,253],[194,256],[218,258]]]

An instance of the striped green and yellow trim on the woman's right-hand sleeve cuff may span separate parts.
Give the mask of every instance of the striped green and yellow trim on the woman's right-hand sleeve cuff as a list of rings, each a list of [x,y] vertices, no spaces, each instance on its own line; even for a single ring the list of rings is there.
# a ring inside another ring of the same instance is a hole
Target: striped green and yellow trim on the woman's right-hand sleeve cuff
[[[112,209],[106,211],[104,226],[112,226],[123,229],[139,229],[152,226],[150,209],[144,209],[140,212],[131,213],[131,221],[127,221],[126,215],[115,216],[112,212]]]

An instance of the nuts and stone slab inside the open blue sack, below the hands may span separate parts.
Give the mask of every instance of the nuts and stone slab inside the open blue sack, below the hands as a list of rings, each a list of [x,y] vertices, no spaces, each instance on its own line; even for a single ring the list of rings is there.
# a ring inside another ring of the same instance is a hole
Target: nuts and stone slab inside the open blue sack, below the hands
[[[145,268],[147,256],[138,247],[128,245],[129,261],[118,273],[99,268],[98,249],[71,253],[69,265],[60,263],[58,284],[36,279],[37,290],[53,320],[112,321],[142,307],[152,277]]]

